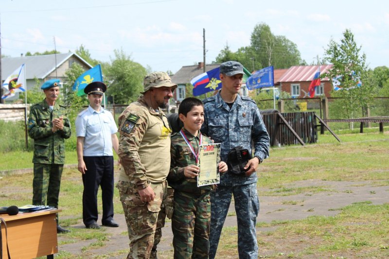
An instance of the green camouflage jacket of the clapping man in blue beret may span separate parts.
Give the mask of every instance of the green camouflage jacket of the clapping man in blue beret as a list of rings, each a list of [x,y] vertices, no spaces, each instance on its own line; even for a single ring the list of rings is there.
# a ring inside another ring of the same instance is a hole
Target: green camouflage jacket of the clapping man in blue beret
[[[64,128],[52,131],[53,119],[63,118]],[[64,106],[55,102],[53,111],[43,100],[34,104],[28,118],[28,135],[34,139],[33,163],[64,164],[65,138],[71,136],[71,126]]]

